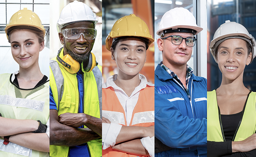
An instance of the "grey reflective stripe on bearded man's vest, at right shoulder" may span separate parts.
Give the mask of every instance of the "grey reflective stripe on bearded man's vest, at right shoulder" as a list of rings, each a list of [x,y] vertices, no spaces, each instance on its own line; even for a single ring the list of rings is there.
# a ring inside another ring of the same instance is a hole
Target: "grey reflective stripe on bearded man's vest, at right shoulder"
[[[99,113],[100,118],[102,118],[102,73],[99,68],[96,66],[93,68],[93,75],[96,80],[98,96],[99,96]]]

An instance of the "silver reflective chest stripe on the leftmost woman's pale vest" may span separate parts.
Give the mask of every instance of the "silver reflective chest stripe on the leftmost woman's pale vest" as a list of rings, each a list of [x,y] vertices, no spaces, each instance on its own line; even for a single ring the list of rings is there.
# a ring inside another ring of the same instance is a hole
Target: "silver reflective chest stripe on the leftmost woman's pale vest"
[[[4,96],[0,95],[0,104],[16,106],[16,107],[24,107],[28,109],[41,111],[41,112],[43,112],[44,110],[44,101],[15,98],[8,95],[4,95]]]

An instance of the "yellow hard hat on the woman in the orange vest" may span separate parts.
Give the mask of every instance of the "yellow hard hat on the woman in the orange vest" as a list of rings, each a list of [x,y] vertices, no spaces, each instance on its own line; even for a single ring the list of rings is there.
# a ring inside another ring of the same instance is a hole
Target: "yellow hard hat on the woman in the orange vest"
[[[146,39],[148,42],[148,46],[154,42],[154,39],[149,33],[147,24],[135,14],[121,17],[116,21],[111,29],[111,32],[106,38],[107,50],[110,51],[113,39],[125,36],[134,36]]]

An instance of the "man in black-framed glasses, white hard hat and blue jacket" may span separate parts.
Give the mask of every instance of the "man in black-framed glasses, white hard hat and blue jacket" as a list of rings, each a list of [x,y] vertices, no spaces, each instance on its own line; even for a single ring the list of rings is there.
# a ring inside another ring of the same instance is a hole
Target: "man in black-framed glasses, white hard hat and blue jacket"
[[[163,61],[155,70],[155,137],[168,147],[155,143],[161,148],[155,157],[206,157],[206,79],[187,65],[194,35],[202,30],[184,8],[167,11],[160,21],[157,45]]]

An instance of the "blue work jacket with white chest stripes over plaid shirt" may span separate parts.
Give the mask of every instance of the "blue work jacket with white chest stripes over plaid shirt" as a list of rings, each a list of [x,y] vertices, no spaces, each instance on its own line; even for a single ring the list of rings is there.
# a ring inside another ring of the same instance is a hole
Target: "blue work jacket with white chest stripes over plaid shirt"
[[[160,65],[155,70],[155,137],[172,149],[155,157],[206,157],[207,80],[191,75],[191,99]]]

